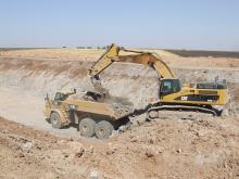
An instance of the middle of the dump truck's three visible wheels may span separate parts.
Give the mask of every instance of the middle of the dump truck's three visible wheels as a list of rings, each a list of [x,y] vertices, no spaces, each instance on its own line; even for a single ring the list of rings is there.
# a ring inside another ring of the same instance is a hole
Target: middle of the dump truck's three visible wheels
[[[79,122],[80,135],[87,138],[95,136],[96,122],[89,117],[86,117]]]

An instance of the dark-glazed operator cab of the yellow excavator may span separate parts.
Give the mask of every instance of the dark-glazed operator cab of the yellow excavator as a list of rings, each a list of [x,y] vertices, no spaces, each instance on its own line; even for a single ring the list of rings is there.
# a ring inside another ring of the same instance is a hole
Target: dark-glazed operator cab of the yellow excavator
[[[161,81],[160,95],[166,95],[180,91],[179,79],[163,79]]]

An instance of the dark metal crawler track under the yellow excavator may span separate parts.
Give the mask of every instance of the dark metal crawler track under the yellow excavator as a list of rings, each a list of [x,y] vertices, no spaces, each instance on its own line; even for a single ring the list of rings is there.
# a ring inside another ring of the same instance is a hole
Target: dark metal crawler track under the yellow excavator
[[[190,106],[190,105],[153,105],[147,111],[147,120],[155,120],[160,118],[160,111],[190,111],[211,114],[213,116],[221,116],[222,111],[213,108],[212,106]]]

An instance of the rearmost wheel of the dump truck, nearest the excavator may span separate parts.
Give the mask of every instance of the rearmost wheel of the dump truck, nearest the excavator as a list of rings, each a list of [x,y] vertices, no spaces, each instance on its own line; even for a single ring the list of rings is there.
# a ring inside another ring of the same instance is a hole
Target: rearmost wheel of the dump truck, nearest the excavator
[[[109,139],[113,130],[113,125],[106,120],[102,120],[96,125],[96,136],[98,139]]]

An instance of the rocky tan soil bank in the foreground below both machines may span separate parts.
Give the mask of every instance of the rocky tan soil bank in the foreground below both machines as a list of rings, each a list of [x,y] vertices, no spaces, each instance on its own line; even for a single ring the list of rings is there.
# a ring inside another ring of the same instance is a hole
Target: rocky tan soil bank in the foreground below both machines
[[[105,141],[0,119],[2,178],[237,178],[239,120],[159,120]]]

